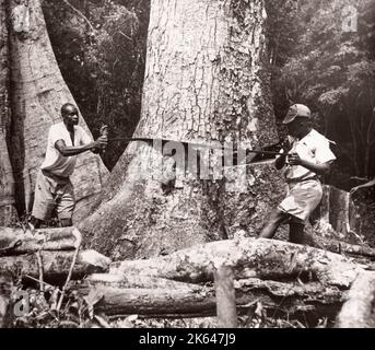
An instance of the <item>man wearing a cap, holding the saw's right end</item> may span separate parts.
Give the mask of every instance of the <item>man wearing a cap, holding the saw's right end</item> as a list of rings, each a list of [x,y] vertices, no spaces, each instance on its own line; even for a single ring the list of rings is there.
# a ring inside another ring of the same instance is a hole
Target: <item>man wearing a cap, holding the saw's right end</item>
[[[276,167],[284,171],[288,183],[285,199],[273,210],[259,237],[272,238],[283,223],[290,225],[290,241],[304,244],[304,228],[323,196],[319,175],[329,173],[336,160],[329,140],[310,126],[308,107],[295,104],[283,121],[289,137],[283,143]]]

